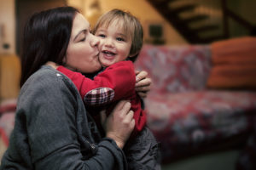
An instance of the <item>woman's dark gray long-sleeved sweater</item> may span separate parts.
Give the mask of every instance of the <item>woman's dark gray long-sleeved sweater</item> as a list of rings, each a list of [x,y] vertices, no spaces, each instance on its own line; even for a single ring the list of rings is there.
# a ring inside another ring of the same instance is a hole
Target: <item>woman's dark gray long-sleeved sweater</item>
[[[49,66],[20,90],[15,128],[0,169],[126,169],[112,139],[101,139],[70,79]]]

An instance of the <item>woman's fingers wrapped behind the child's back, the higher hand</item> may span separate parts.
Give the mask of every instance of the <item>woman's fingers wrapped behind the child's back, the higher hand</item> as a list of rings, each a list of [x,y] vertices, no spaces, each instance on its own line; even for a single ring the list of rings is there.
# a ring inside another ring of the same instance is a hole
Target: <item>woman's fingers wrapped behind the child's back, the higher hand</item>
[[[150,90],[150,85],[152,81],[151,78],[148,78],[147,76],[147,71],[136,71],[135,90],[141,98],[147,97],[147,94]]]

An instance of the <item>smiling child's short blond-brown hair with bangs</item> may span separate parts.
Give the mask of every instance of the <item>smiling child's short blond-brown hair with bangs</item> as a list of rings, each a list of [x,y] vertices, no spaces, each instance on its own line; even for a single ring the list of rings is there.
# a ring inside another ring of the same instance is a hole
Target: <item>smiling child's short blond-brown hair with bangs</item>
[[[125,33],[131,36],[130,55],[133,57],[129,58],[129,60],[134,62],[143,47],[143,26],[131,13],[114,8],[99,18],[92,32],[95,34],[97,29],[101,26],[108,28],[108,26],[115,20],[118,21],[119,26]]]

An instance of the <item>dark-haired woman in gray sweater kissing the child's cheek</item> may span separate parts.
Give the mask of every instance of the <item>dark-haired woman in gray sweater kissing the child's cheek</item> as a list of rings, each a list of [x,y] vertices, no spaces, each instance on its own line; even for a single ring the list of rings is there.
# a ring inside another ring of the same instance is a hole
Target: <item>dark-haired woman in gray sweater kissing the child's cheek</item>
[[[70,79],[53,61],[83,73],[98,71],[99,40],[76,8],[34,14],[26,25],[15,128],[0,169],[126,169],[121,150],[134,127],[121,101],[98,133]]]

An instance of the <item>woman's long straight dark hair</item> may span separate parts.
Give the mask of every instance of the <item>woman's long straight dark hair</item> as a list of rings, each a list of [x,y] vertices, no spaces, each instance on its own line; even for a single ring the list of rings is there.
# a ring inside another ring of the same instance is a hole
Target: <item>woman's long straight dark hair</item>
[[[33,14],[27,21],[22,44],[20,87],[48,61],[62,65],[77,8],[58,7]]]

